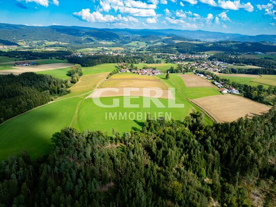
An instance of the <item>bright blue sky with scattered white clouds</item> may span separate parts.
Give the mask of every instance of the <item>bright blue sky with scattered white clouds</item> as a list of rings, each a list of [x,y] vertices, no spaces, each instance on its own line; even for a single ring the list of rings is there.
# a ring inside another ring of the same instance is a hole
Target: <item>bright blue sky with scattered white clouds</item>
[[[276,34],[276,0],[0,0],[0,22]]]

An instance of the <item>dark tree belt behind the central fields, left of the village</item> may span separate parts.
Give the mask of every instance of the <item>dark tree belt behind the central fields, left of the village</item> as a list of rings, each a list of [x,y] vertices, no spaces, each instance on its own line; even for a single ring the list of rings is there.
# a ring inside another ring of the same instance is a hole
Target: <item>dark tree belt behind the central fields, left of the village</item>
[[[154,57],[148,55],[84,55],[81,57],[70,56],[67,60],[70,63],[79,64],[82,67],[96,66],[104,63],[155,63]]]

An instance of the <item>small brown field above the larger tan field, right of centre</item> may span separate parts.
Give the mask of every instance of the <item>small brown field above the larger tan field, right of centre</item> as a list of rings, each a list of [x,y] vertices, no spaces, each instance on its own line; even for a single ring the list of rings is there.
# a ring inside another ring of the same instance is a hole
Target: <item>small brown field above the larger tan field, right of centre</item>
[[[186,87],[216,87],[211,82],[195,74],[180,75]]]

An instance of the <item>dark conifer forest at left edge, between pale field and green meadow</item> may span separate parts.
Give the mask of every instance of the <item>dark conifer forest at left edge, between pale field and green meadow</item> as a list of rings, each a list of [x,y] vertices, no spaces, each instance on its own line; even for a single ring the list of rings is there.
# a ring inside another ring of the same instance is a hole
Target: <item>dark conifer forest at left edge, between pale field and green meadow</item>
[[[66,81],[32,72],[0,75],[0,123],[68,94]]]

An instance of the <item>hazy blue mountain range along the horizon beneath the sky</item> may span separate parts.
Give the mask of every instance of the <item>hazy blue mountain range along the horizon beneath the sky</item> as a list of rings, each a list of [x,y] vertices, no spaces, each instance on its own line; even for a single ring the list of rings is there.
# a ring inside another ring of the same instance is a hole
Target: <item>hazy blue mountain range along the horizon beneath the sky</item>
[[[122,40],[139,36],[175,35],[192,40],[206,42],[239,41],[239,42],[272,42],[276,43],[276,35],[247,36],[208,31],[189,31],[180,29],[129,29],[129,28],[94,28],[82,26],[26,26],[0,23],[0,39],[18,41],[22,39],[48,40],[60,42],[87,43],[99,40]],[[85,37],[85,38],[83,38]],[[92,39],[91,39],[92,38]],[[95,38],[95,39],[93,39]]]

